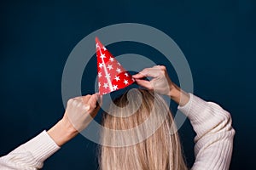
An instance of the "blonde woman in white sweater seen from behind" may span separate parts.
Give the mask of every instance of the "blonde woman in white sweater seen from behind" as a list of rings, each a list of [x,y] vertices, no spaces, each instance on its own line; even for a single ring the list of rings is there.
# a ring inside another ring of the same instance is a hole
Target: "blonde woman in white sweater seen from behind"
[[[151,81],[144,77],[153,77]],[[178,109],[189,117],[195,132],[195,163],[192,169],[229,169],[235,130],[231,127],[231,117],[219,105],[206,102],[193,94],[187,94],[178,88],[168,77],[166,67],[157,65],[134,75],[138,85],[148,90],[139,89],[127,102],[129,93],[115,99],[109,114],[103,116],[102,124],[113,130],[127,130],[141,125],[150,113],[154,115],[154,126],[167,111],[164,122],[148,139],[130,144],[148,130],[144,127],[133,131],[133,135],[111,136],[102,131],[102,149],[100,167],[102,170],[115,169],[187,169],[182,156],[181,146],[172,115],[163,99],[158,94],[166,94],[177,102]],[[166,80],[168,86],[166,86]],[[61,145],[73,139],[96,116],[98,94],[70,99],[67,110],[60,122],[49,131],[38,134],[34,139],[20,145],[7,156],[0,158],[1,169],[38,169],[44,160],[59,150]],[[138,109],[135,106],[142,99]],[[156,102],[155,102],[156,101]],[[124,109],[122,109],[124,108]],[[127,116],[127,111],[136,113]],[[120,147],[124,144],[124,147]],[[113,147],[116,145],[117,147]]]

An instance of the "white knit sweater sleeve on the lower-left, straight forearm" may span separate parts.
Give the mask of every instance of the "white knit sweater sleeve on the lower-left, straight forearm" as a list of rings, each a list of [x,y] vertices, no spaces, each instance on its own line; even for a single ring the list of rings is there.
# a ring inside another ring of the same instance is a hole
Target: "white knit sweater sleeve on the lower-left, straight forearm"
[[[60,147],[49,137],[46,131],[20,145],[8,155],[0,157],[0,169],[39,169],[44,161]]]

